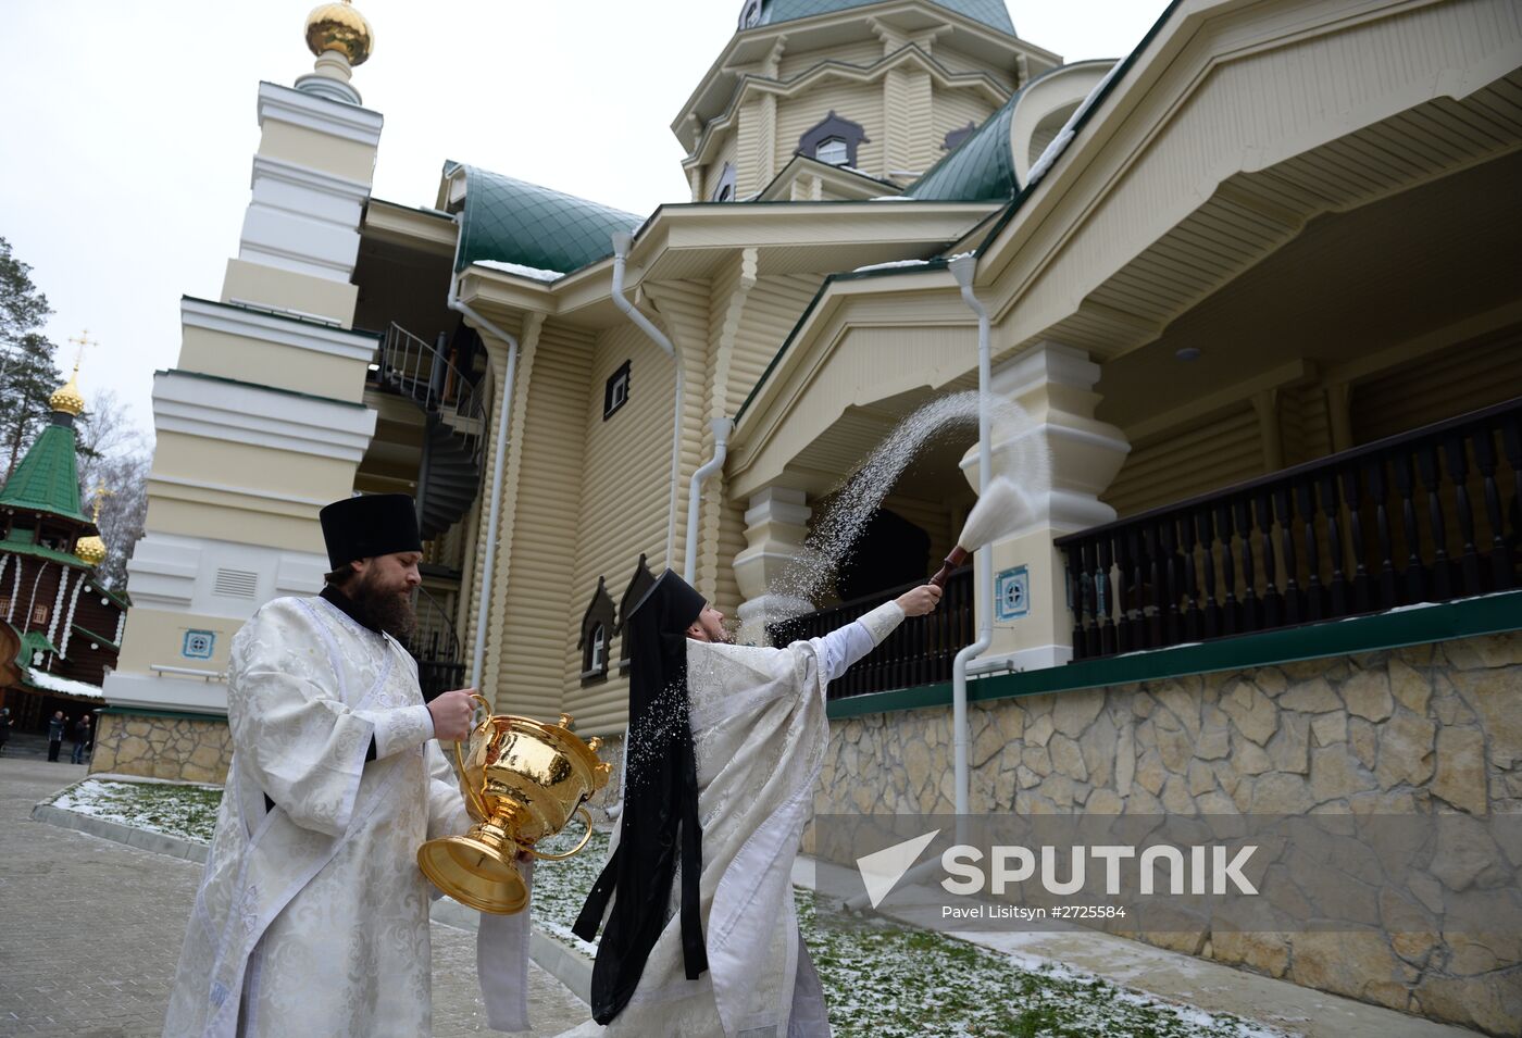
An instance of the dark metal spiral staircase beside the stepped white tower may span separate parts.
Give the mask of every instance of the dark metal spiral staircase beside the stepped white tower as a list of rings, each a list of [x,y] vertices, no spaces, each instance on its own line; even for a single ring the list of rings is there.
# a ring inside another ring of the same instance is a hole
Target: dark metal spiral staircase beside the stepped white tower
[[[460,522],[481,489],[481,387],[441,349],[394,321],[380,342],[370,385],[411,400],[426,419],[417,502],[423,540],[432,540]]]

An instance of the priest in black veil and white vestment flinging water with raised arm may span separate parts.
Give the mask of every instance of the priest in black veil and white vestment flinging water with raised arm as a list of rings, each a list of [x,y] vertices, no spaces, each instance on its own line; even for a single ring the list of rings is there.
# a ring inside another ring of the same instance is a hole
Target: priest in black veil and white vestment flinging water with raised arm
[[[624,804],[575,931],[607,918],[594,1020],[574,1035],[828,1035],[791,869],[829,743],[825,686],[904,616],[916,587],[823,638],[726,644],[723,615],[667,572],[630,613]],[[610,907],[609,907],[609,903]]]

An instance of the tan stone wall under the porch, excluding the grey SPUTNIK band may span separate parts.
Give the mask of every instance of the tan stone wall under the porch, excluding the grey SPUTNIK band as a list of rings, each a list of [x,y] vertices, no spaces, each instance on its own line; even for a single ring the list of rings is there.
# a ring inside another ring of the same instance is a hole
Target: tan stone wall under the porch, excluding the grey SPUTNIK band
[[[973,703],[968,715],[974,813],[1522,813],[1522,632]],[[950,814],[951,764],[950,708],[831,721],[814,810]],[[1522,935],[1429,933],[1423,906],[1380,909],[1379,931],[1132,936],[1522,1033]]]

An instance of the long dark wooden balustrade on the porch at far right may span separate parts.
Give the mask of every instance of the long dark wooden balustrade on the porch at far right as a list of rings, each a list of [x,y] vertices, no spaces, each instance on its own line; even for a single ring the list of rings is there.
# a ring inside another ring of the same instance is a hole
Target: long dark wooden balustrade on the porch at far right
[[[1522,586],[1522,399],[1061,537],[1073,658]]]

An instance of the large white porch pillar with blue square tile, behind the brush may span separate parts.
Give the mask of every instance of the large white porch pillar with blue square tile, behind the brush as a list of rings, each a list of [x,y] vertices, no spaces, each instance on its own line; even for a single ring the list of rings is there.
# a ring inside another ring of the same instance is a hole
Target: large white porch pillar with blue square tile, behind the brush
[[[1026,420],[995,417],[994,475],[1030,492],[1032,519],[992,545],[994,603],[979,595],[979,618],[994,609],[994,644],[976,670],[1041,670],[1073,659],[1073,618],[1067,604],[1062,552],[1055,540],[1111,522],[1116,510],[1099,495],[1131,451],[1113,425],[1094,419],[1099,365],[1082,350],[1041,342],[994,370],[991,391],[1020,405]],[[1032,478],[1033,457],[1049,460],[1049,476]],[[977,489],[977,452],[962,458]]]

